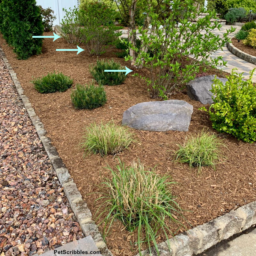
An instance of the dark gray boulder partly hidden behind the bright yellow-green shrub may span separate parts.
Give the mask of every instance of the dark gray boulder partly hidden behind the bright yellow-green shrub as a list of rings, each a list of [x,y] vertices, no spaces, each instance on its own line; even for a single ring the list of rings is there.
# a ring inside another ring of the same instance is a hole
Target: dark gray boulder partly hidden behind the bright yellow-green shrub
[[[212,104],[212,80],[214,79],[215,75],[211,76],[202,76],[197,77],[195,80],[191,80],[187,84],[187,94],[190,99],[200,101],[203,104]],[[217,76],[217,79],[222,81],[223,84],[226,84],[228,81],[227,78],[220,78]]]

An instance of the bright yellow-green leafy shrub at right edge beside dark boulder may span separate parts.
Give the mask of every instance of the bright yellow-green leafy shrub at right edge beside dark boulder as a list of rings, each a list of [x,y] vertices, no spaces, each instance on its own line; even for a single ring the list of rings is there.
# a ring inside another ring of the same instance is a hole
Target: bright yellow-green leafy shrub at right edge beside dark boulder
[[[210,90],[216,96],[209,109],[212,127],[249,143],[256,140],[256,89],[252,83],[254,70],[250,71],[247,81],[243,81],[242,74],[237,74],[234,69],[227,77],[226,84],[215,76]]]

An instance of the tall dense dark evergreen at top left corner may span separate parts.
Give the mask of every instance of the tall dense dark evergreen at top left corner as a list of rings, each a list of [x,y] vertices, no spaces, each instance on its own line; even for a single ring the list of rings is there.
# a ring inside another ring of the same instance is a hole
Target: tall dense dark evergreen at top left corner
[[[4,0],[0,6],[0,29],[7,43],[14,47],[18,59],[40,54],[44,26],[36,0]]]

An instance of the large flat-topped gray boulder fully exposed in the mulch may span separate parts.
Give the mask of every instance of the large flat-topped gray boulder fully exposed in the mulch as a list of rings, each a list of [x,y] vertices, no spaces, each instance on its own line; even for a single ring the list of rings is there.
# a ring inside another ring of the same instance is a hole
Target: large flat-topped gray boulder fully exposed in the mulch
[[[144,131],[188,132],[193,106],[184,100],[142,102],[124,111],[123,125]]]

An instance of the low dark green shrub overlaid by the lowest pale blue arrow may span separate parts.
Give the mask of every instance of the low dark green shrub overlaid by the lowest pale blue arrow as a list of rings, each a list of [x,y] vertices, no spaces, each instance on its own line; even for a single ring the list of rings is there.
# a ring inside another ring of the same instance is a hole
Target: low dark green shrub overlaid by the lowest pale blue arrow
[[[103,85],[118,85],[122,84],[125,80],[125,72],[104,72],[105,69],[125,69],[125,67],[114,60],[97,60],[97,64],[89,68],[93,78],[97,82],[101,81]]]

